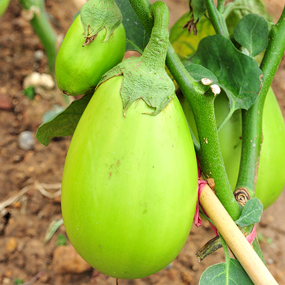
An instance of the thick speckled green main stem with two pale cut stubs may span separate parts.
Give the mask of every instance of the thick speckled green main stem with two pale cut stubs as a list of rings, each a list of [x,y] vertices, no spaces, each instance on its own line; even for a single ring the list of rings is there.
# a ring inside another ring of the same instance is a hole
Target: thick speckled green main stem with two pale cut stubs
[[[146,32],[150,35],[153,20],[150,17],[149,9],[151,5],[149,1],[129,0],[129,2]],[[166,55],[166,65],[188,99],[195,114],[201,146],[200,153],[198,153],[201,169],[203,173],[215,180],[217,197],[233,220],[236,220],[240,216],[241,208],[233,196],[221,155],[215,123],[214,94],[212,92],[205,94],[209,86],[204,86],[201,82],[195,81],[188,74],[170,43]],[[206,140],[208,143],[206,143]]]

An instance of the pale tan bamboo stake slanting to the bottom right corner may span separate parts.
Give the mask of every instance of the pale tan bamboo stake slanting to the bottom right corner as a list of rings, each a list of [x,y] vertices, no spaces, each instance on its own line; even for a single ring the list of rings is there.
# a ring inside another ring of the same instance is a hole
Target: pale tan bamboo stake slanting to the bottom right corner
[[[201,192],[200,204],[252,282],[256,285],[278,285],[268,268],[259,258],[209,185],[206,185]]]

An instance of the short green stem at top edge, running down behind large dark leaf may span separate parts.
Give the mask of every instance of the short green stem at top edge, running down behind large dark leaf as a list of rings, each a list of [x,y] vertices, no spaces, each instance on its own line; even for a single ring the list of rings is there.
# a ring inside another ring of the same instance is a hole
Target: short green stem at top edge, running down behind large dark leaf
[[[221,4],[223,1],[218,1],[218,8],[221,10]],[[215,32],[217,34],[221,34],[222,36],[225,36],[226,38],[230,39],[229,31],[227,29],[227,24],[225,21],[225,18],[223,14],[221,14],[216,6],[213,0],[205,0],[205,4],[207,7],[207,12],[210,18],[210,21],[215,29]]]

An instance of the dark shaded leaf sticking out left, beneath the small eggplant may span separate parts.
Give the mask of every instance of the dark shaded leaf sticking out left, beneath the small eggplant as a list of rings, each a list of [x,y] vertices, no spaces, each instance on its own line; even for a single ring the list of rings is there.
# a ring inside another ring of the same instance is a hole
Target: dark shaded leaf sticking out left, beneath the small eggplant
[[[81,99],[73,101],[64,111],[40,125],[36,132],[37,140],[47,146],[53,137],[73,135],[78,121],[92,95],[93,93],[89,93]]]

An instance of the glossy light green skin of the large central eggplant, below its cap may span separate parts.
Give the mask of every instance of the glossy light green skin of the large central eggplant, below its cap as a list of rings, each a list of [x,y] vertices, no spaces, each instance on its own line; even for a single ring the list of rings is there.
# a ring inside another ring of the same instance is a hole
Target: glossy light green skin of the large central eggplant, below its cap
[[[62,215],[76,251],[122,279],[167,266],[189,235],[197,162],[181,105],[158,115],[139,99],[123,116],[122,76],[101,84],[72,137],[62,180]]]

